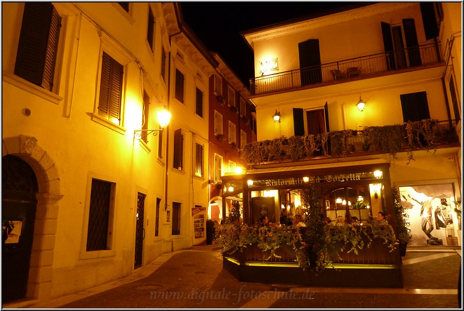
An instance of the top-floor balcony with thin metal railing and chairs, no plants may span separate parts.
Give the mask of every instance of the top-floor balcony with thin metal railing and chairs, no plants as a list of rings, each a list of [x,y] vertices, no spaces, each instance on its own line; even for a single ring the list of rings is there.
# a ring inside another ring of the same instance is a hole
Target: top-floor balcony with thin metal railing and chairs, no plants
[[[439,44],[425,44],[250,79],[251,95],[417,70],[442,61]]]

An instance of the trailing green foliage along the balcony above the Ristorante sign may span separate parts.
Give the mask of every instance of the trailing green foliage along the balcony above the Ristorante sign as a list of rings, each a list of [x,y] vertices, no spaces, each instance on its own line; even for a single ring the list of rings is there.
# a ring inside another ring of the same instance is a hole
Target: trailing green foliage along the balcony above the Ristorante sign
[[[275,161],[299,161],[319,156],[348,157],[357,151],[391,154],[407,152],[408,164],[413,151],[435,153],[436,146],[457,141],[454,128],[439,121],[426,119],[402,124],[366,126],[363,131],[344,129],[318,135],[303,135],[248,143],[241,149],[241,157],[248,164]],[[362,150],[356,149],[356,143]]]

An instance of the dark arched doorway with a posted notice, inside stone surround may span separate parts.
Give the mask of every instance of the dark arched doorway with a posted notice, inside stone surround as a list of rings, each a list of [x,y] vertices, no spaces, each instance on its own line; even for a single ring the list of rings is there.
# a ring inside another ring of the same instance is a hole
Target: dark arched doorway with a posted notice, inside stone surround
[[[14,155],[2,159],[2,296],[3,301],[27,294],[37,178],[33,169]]]

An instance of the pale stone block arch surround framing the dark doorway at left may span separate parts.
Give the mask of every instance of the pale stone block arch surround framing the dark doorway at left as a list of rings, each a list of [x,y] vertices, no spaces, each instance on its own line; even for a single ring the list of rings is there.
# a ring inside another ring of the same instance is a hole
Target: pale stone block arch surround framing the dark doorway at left
[[[27,299],[48,300],[58,223],[60,178],[55,162],[32,136],[3,139],[3,154],[15,155],[27,162],[37,177],[37,212],[34,223]]]

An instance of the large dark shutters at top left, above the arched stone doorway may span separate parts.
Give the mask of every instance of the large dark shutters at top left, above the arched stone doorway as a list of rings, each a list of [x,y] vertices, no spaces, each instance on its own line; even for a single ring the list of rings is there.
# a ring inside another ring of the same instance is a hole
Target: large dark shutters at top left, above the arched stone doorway
[[[24,4],[14,73],[51,91],[61,17],[51,3]]]

